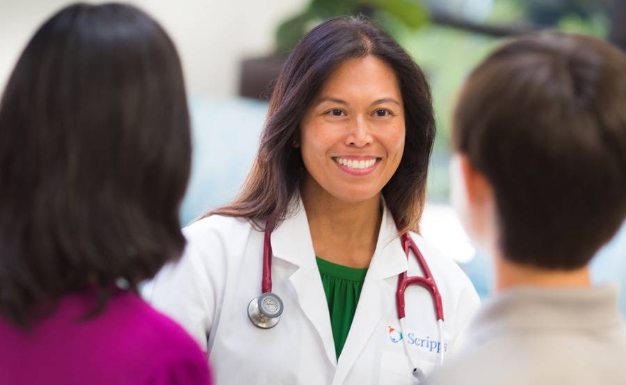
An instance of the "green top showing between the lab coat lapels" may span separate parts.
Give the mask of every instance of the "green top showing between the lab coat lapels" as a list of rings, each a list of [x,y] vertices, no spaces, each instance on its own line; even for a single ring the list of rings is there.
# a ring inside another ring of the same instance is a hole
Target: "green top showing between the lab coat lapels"
[[[328,311],[330,312],[330,327],[332,339],[335,341],[337,359],[344,348],[348,331],[361,295],[361,288],[367,268],[355,269],[315,257],[319,274],[321,275]]]

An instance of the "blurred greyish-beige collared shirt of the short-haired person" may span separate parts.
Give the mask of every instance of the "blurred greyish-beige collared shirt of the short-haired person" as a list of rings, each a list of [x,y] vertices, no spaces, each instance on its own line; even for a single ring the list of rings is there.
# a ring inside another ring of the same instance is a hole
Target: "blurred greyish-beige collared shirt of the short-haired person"
[[[626,384],[614,286],[507,290],[483,306],[429,385]]]

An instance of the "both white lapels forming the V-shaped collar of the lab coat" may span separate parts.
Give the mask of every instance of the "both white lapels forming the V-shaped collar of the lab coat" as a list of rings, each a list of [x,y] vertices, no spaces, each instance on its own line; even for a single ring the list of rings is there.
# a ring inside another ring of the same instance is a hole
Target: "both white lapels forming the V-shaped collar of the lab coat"
[[[384,200],[381,204],[383,219],[376,250],[361,291],[362,300],[359,300],[339,363],[335,357],[328,303],[315,261],[307,215],[300,199],[292,206],[292,215],[273,231],[271,237],[273,256],[299,267],[289,280],[296,289],[300,307],[319,333],[328,359],[333,365],[337,365],[332,384],[342,384],[374,333],[376,325],[389,311],[390,306],[394,306],[395,302],[390,298],[393,298],[392,293],[396,288],[395,277],[408,268],[394,218]]]

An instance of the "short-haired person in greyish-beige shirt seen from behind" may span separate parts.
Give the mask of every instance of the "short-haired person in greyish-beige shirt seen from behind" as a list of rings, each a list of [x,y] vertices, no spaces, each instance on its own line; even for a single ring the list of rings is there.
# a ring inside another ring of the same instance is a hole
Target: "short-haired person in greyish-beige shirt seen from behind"
[[[529,35],[470,74],[451,200],[495,266],[495,298],[428,384],[626,384],[617,289],[588,263],[626,217],[626,56]]]

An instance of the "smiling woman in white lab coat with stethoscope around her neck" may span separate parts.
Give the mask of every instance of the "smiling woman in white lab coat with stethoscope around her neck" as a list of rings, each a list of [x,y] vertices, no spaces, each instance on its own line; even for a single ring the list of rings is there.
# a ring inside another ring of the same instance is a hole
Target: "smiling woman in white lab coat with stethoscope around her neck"
[[[367,20],[323,22],[287,59],[241,192],[185,229],[146,296],[218,384],[420,381],[479,306],[417,232],[434,138],[406,51]]]

